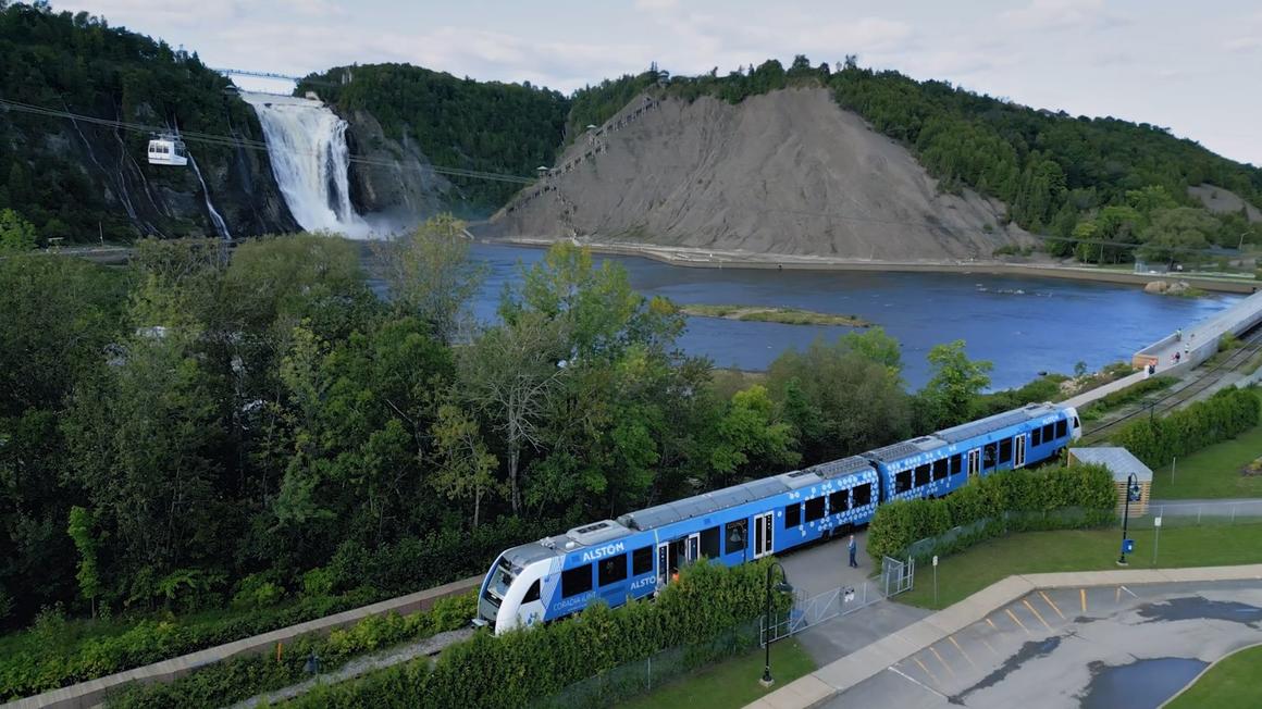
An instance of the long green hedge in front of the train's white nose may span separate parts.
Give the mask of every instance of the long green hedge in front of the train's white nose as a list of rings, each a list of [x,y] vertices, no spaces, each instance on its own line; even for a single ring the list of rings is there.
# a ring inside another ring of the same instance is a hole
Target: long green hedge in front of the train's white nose
[[[598,603],[573,621],[498,637],[477,633],[444,650],[433,665],[411,661],[324,685],[294,704],[321,709],[530,706],[664,648],[704,646],[731,635],[764,612],[769,563],[764,559],[731,569],[692,564],[656,602],[639,601],[615,609]],[[789,598],[776,598],[782,611]]]

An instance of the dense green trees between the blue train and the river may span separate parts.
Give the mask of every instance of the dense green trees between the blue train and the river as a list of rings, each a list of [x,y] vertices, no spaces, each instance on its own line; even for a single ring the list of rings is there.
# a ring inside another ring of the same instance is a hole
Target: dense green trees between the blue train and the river
[[[878,329],[718,373],[674,305],[568,245],[473,325],[461,228],[377,249],[389,302],[328,236],[0,259],[3,623],[362,602],[964,420],[988,382],[953,343],[907,394]]]

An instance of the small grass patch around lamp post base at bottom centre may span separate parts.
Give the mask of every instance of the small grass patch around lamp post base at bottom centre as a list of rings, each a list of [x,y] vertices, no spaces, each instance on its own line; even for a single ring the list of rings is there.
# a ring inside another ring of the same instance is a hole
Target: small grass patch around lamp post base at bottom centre
[[[762,679],[762,662],[764,650],[760,647],[748,655],[705,667],[690,679],[673,681],[661,689],[617,706],[620,709],[738,708],[815,670],[815,661],[810,659],[810,655],[806,655],[796,640],[791,638],[771,646],[771,676],[775,677],[776,684],[771,685],[770,689],[764,689],[758,684],[758,680]]]

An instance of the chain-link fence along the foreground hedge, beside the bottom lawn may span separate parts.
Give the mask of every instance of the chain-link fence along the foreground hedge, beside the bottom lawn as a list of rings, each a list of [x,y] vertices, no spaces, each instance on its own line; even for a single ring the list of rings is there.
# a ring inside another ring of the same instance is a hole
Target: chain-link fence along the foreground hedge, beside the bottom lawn
[[[663,650],[644,660],[575,683],[559,694],[531,704],[533,709],[604,708],[652,691],[713,662],[758,647],[760,621],[723,632],[708,642]]]

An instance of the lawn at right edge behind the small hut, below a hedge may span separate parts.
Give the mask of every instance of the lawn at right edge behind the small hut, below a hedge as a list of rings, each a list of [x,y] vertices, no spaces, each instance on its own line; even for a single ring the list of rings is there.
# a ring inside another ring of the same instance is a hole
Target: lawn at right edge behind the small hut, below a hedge
[[[1241,474],[1241,468],[1258,455],[1262,455],[1262,425],[1180,458],[1175,462],[1172,483],[1170,463],[1152,471],[1152,497],[1262,497],[1262,476]]]

